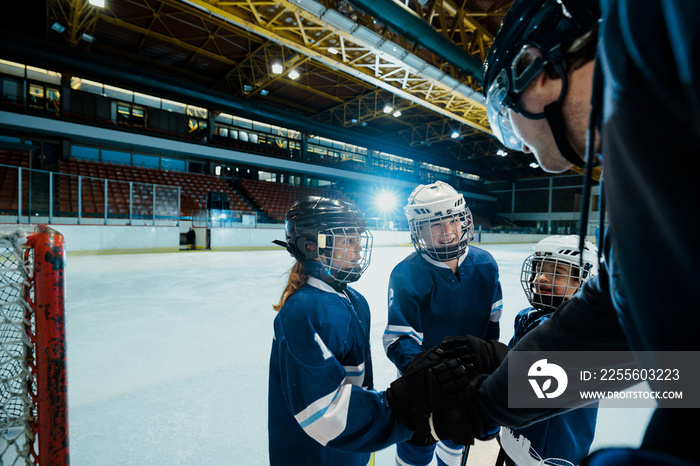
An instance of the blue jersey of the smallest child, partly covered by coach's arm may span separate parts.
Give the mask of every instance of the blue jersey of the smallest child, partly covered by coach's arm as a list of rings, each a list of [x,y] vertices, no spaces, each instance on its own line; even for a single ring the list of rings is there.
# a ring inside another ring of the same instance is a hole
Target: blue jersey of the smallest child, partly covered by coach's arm
[[[534,307],[523,309],[515,317],[515,331],[508,346],[513,347],[530,330],[549,320],[545,313]],[[558,416],[536,422],[520,429],[504,428],[501,446],[518,466],[529,464],[557,464],[573,466],[588,454],[595,434],[598,404],[574,409]]]

